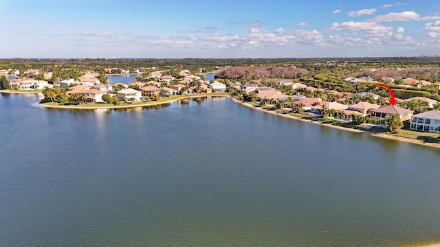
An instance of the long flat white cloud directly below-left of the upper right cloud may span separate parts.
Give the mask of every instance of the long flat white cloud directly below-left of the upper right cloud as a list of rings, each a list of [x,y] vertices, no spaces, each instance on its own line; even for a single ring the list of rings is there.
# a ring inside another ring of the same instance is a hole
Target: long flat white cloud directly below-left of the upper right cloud
[[[369,35],[383,35],[384,33],[393,30],[393,27],[386,27],[377,23],[371,22],[344,22],[344,23],[333,23],[330,25],[329,30],[351,30],[351,31],[362,31]]]

